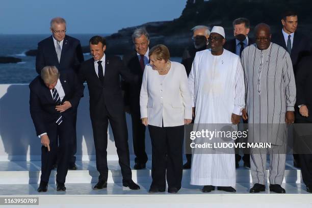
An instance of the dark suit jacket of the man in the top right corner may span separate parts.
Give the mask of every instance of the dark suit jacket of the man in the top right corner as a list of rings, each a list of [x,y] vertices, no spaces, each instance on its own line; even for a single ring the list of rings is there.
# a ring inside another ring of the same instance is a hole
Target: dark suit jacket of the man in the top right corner
[[[285,50],[287,50],[287,45],[285,43],[285,39],[282,32],[273,34],[272,42],[282,46]],[[297,65],[300,62],[300,60],[303,57],[308,56],[310,54],[310,50],[311,46],[309,39],[305,35],[295,32],[291,53],[294,72],[296,72]]]

